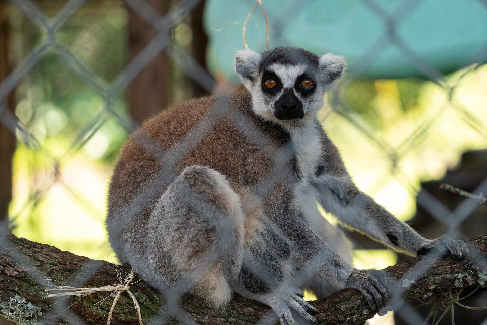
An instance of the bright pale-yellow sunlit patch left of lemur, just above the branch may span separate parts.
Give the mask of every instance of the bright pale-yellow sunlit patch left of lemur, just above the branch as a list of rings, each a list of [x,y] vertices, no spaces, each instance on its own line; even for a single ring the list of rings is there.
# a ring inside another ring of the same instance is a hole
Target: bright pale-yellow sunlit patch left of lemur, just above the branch
[[[58,177],[39,166],[32,175],[28,165],[38,158],[19,144],[10,206],[14,234],[94,259],[114,256],[105,229],[109,166],[80,152],[60,167]]]

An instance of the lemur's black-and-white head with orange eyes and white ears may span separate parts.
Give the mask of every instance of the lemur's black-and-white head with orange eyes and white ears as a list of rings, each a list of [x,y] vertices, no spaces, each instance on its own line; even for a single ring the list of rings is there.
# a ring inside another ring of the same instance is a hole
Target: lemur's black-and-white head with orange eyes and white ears
[[[235,70],[252,94],[255,112],[271,120],[314,115],[323,95],[340,78],[345,61],[335,54],[318,56],[297,48],[275,48],[261,54],[239,51]]]

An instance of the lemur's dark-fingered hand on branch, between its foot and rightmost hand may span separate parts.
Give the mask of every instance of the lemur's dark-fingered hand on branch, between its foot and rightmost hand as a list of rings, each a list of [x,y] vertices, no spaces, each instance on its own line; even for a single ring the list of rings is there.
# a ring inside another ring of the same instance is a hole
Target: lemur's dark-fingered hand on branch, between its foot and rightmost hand
[[[371,311],[375,314],[379,310],[382,311],[387,305],[387,290],[372,273],[373,271],[367,270],[352,271],[347,279],[346,287],[360,291],[369,303]]]

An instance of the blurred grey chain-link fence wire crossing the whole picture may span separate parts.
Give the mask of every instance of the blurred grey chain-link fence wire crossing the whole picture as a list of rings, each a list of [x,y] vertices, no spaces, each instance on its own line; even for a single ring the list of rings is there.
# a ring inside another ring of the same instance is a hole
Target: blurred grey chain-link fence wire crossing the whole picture
[[[244,1],[244,0],[241,0]],[[379,59],[380,54],[386,49],[387,44],[392,42],[402,51],[403,54],[408,56],[416,69],[421,71],[425,77],[438,86],[438,89],[443,91],[448,97],[448,105],[453,108],[458,116],[468,125],[468,127],[480,135],[484,139],[487,139],[486,122],[479,120],[473,115],[465,103],[458,101],[452,94],[455,92],[456,87],[460,83],[461,79],[469,73],[474,73],[481,69],[482,65],[471,65],[464,70],[463,75],[459,76],[455,82],[447,80],[447,78],[435,67],[431,66],[428,62],[423,60],[419,55],[404,43],[401,38],[395,33],[397,24],[401,19],[407,17],[411,12],[416,10],[421,1],[404,1],[394,13],[387,14],[378,7],[373,0],[361,0],[368,8],[370,8],[377,16],[377,19],[384,23],[384,33],[380,36],[374,46],[370,50],[364,53],[359,60],[355,63],[359,69],[354,69],[354,72],[358,74],[360,69],[367,69],[375,60]],[[485,1],[481,1],[487,5]],[[187,133],[187,136],[180,141],[177,147],[170,152],[164,152],[158,147],[158,144],[153,141],[149,136],[142,137],[139,140],[143,144],[144,148],[149,151],[161,165],[164,166],[157,178],[153,179],[149,186],[144,188],[128,205],[127,209],[122,212],[124,217],[130,218],[133,215],[139,213],[148,202],[154,199],[154,195],[158,193],[157,189],[161,188],[161,184],[169,183],[175,178],[175,164],[180,158],[182,158],[187,152],[189,152],[198,141],[205,136],[205,134],[211,129],[215,123],[226,114],[226,97],[225,92],[222,93],[218,88],[218,84],[215,78],[210,75],[205,67],[201,66],[191,54],[188,54],[185,49],[181,47],[171,37],[171,32],[178,26],[181,19],[185,17],[198,5],[199,0],[181,0],[177,2],[165,15],[160,14],[156,9],[152,7],[150,2],[145,0],[124,0],[125,4],[136,12],[141,18],[145,19],[152,28],[155,30],[155,35],[150,42],[144,46],[144,48],[119,72],[111,82],[106,82],[104,78],[90,69],[82,60],[74,53],[70,48],[63,45],[58,41],[56,33],[59,29],[78,11],[81,6],[85,4],[85,0],[69,0],[53,17],[48,17],[39,7],[36,2],[31,0],[10,0],[11,4],[17,7],[25,17],[36,26],[37,29],[43,31],[45,37],[32,49],[32,51],[26,55],[21,62],[15,67],[15,69],[9,73],[3,80],[0,80],[0,119],[1,123],[6,126],[13,134],[17,136],[19,142],[22,142],[29,148],[37,150],[42,155],[45,161],[49,162],[49,168],[51,168],[51,177],[44,180],[43,183],[32,191],[28,196],[28,202],[25,203],[26,209],[29,201],[38,201],[45,195],[49,186],[54,182],[62,182],[62,170],[59,166],[65,161],[69,161],[76,152],[83,148],[92,139],[101,125],[108,119],[114,119],[118,121],[121,126],[124,126],[127,132],[131,132],[134,126],[138,125],[137,121],[127,121],[127,117],[121,114],[121,110],[118,109],[119,96],[129,87],[131,82],[150,64],[150,62],[161,52],[165,52],[179,68],[186,72],[187,76],[193,79],[193,81],[208,92],[214,92],[221,94],[221,100],[218,101],[214,111],[210,116],[210,121],[197,125],[194,129]],[[249,6],[253,5],[249,2]],[[269,13],[270,26],[272,28],[278,28],[278,23],[282,20],[290,20],[297,16],[297,11],[303,7],[300,5],[301,1],[294,1],[285,17],[273,17],[272,13]],[[265,1],[264,1],[265,6]],[[278,36],[279,37],[279,34]],[[271,42],[279,43],[279,39],[271,39]],[[487,46],[487,44],[486,44]],[[485,52],[485,47],[482,51]],[[101,109],[94,118],[86,122],[86,124],[80,128],[75,138],[70,143],[69,147],[60,155],[54,155],[50,150],[47,150],[43,141],[39,140],[36,135],[27,127],[12,109],[8,109],[7,97],[14,91],[21,81],[33,71],[34,67],[48,54],[54,53],[56,57],[63,62],[65,67],[72,73],[74,73],[79,80],[94,90],[99,96],[103,98],[103,109]],[[472,58],[484,57],[484,53],[472,54]],[[471,62],[477,63],[477,62]],[[337,84],[332,94],[327,101],[327,108],[324,115],[321,117],[322,123],[326,121],[331,114],[337,114],[341,118],[350,123],[353,128],[358,131],[361,136],[367,138],[373,143],[377,150],[388,157],[391,170],[386,173],[383,179],[375,182],[375,187],[380,187],[391,176],[397,178],[408,189],[415,194],[417,191],[417,185],[410,183],[407,176],[407,171],[403,170],[398,164],[400,160],[407,156],[408,153],[424,140],[425,134],[431,131],[435,127],[437,116],[426,116],[423,121],[417,123],[415,129],[410,132],[408,136],[399,145],[393,145],[388,143],[384,138],[377,136],[374,132],[371,132],[370,127],[365,125],[364,121],[357,118],[354,112],[357,110],[353,107],[349,101],[342,100],[342,94],[349,90],[353,86],[354,81],[358,78],[358,75],[349,75],[341,83]],[[482,87],[478,85],[477,87]],[[218,91],[217,91],[218,90]],[[441,114],[441,109],[438,110],[438,114]],[[272,146],[272,143],[255,127],[252,127],[252,123],[247,120],[244,115],[230,116],[229,119],[234,125],[254,143],[258,144],[265,150]],[[280,179],[280,166],[287,163],[287,160],[292,157],[293,152],[292,145],[283,146],[280,150],[273,148],[274,153],[274,172],[272,172],[267,179],[254,189],[254,194],[258,198],[265,197],[267,191],[269,191],[275,184],[282,181]],[[75,194],[75,189],[72,189],[69,184],[64,184],[67,191],[72,191]],[[478,187],[473,191],[474,194],[487,193],[487,178],[484,181],[479,181]],[[81,204],[84,204],[83,200],[80,200]],[[418,195],[418,204],[425,210],[431,212],[431,214],[439,220],[440,223],[447,229],[447,235],[459,238],[462,237],[459,225],[462,221],[470,216],[470,214],[477,208],[477,202],[465,199],[464,202],[458,206],[455,210],[450,211],[442,202],[430,195],[424,189]],[[211,213],[211,212],[208,212]],[[10,245],[8,240],[1,240],[2,245]],[[30,268],[31,262],[22,257],[20,253],[12,256],[19,264],[25,265],[27,270],[35,270]],[[98,262],[96,262],[98,263]],[[208,265],[210,263],[208,262]],[[87,266],[88,267],[88,266]],[[90,268],[92,266],[89,266]],[[416,277],[420,277],[422,273],[427,270],[415,270]],[[83,273],[82,270],[80,274]],[[41,286],[46,286],[45,277],[40,271],[35,271],[31,274]],[[86,274],[85,274],[86,275]],[[304,276],[304,275],[302,275]],[[75,276],[74,278],[78,278]],[[413,279],[413,275],[411,279]],[[299,282],[300,279],[297,279]],[[82,283],[77,283],[77,286],[82,287]],[[181,287],[165,288],[168,296],[174,298],[169,302],[166,307],[167,311],[170,311],[167,316],[157,315],[154,316],[158,322],[165,322],[169,320],[169,317],[176,316],[176,318],[183,320],[185,324],[190,324],[192,321],[186,312],[174,302],[181,298],[183,288],[186,284],[181,284]],[[402,294],[396,292],[394,299],[402,302]],[[406,304],[406,303],[405,303]],[[400,305],[400,304],[398,304]],[[408,324],[420,324],[418,322],[424,322],[421,315],[406,311],[406,308],[401,307],[396,312],[402,317]],[[66,306],[65,300],[59,300],[54,308],[49,311],[52,315],[57,315],[59,319],[69,324],[83,324],[83,321],[78,319],[77,316],[72,313]],[[272,314],[272,313],[271,313]],[[269,315],[271,315],[269,314]],[[170,316],[169,316],[170,315]],[[166,318],[167,317],[167,318]],[[275,322],[277,319],[269,316],[266,320]],[[263,322],[263,321],[262,321]],[[264,324],[264,323],[262,323]]]

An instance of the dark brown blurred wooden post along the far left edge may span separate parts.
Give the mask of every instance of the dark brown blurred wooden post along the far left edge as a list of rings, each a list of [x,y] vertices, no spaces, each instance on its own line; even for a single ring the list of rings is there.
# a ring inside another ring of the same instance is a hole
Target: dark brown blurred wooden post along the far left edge
[[[11,72],[9,59],[9,21],[7,1],[0,0],[0,83]],[[14,94],[0,98],[3,107],[14,111]],[[15,151],[14,134],[0,122],[0,221],[8,216],[8,204],[12,200],[12,157]]]

